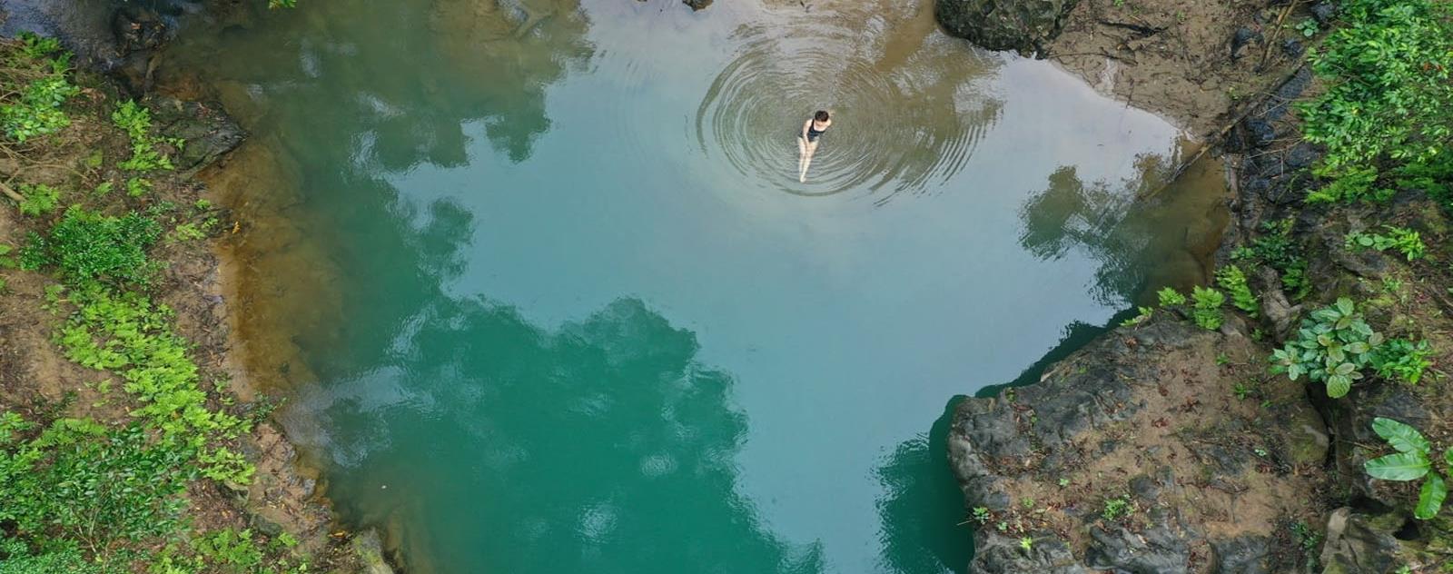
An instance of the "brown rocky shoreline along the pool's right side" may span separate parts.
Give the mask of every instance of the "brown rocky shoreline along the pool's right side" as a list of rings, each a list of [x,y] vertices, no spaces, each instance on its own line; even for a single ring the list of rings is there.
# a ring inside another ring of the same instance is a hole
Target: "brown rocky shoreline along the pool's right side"
[[[1436,443],[1447,436],[1446,376],[1417,387],[1363,381],[1332,400],[1321,385],[1267,372],[1298,318],[1338,296],[1360,301],[1370,324],[1430,341],[1434,365],[1450,349],[1446,269],[1344,246],[1351,231],[1396,224],[1443,257],[1449,221],[1434,201],[1402,189],[1386,203],[1302,202],[1318,185],[1309,170],[1321,150],[1302,141],[1290,108],[1319,86],[1303,65],[1303,42],[1315,39],[1287,28],[1328,26],[1332,9],[1078,4],[940,0],[939,9],[950,32],[1058,58],[1231,157],[1235,221],[1218,264],[1247,266],[1254,248],[1274,246],[1303,262],[1306,286],[1292,289],[1286,269],[1251,257],[1254,312],[1207,331],[1190,308],[1168,305],[1107,331],[1036,384],[963,401],[949,459],[975,527],[969,571],[1446,571],[1447,519],[1414,520],[1411,487],[1363,471],[1386,452],[1375,417],[1424,429]],[[965,17],[985,10],[1019,16]]]

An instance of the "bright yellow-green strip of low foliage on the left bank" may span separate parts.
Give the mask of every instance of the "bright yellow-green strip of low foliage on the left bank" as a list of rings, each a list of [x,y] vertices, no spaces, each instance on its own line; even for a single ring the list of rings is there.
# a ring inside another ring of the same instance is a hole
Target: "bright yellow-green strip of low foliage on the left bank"
[[[70,299],[76,312],[57,336],[67,359],[119,373],[122,388],[142,403],[132,414],[148,419],[164,442],[196,449],[206,477],[250,481],[253,466],[244,458],[203,449],[214,436],[237,436],[246,423],[206,407],[186,340],[171,330],[171,310],[94,283],[74,289]]]

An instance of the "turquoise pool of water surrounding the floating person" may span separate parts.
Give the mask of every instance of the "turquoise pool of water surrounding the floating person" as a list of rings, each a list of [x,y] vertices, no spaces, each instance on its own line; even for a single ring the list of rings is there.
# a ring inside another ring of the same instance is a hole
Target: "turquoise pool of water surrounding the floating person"
[[[1135,202],[1173,126],[928,4],[193,22],[254,134],[244,323],[339,510],[410,571],[962,571],[953,398],[1202,279],[1225,190]]]

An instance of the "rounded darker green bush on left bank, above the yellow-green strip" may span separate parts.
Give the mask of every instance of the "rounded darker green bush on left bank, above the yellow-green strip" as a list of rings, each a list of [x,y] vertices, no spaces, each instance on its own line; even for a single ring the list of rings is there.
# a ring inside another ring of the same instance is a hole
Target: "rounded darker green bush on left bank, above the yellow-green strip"
[[[102,280],[110,285],[148,285],[158,264],[147,257],[161,237],[161,227],[135,212],[109,217],[71,206],[49,237],[32,233],[22,251],[22,266],[55,266],[67,285]]]

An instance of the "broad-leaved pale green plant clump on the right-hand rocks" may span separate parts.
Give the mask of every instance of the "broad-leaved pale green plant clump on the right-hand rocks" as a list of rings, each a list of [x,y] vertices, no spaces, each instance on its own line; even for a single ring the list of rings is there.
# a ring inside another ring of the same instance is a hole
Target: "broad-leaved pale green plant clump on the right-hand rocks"
[[[1344,296],[1302,320],[1296,339],[1271,353],[1271,372],[1286,373],[1292,381],[1306,375],[1309,381],[1325,384],[1328,397],[1344,397],[1353,381],[1363,378],[1361,371],[1382,343],[1382,334],[1373,331],[1353,301]]]

